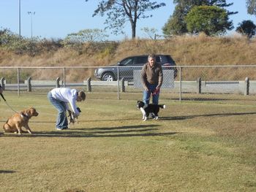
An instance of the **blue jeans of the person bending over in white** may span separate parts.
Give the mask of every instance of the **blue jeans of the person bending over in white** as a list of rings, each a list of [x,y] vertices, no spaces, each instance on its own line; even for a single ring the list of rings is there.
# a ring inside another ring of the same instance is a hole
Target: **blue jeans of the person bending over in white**
[[[48,93],[48,99],[51,104],[53,104],[54,107],[58,110],[58,116],[56,120],[56,128],[67,128],[68,123],[67,123],[67,115],[66,115],[66,104],[64,101],[59,101],[58,99],[54,99],[52,94],[49,92]]]

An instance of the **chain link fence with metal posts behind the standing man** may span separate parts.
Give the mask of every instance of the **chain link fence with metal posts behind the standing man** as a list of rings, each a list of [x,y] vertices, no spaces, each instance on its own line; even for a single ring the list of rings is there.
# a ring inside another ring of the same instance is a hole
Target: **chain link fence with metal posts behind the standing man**
[[[141,99],[141,66],[1,66],[0,83],[20,94],[55,87],[85,90],[94,98]],[[160,99],[214,100],[219,95],[255,96],[256,66],[163,66]],[[108,93],[108,94],[106,94]]]

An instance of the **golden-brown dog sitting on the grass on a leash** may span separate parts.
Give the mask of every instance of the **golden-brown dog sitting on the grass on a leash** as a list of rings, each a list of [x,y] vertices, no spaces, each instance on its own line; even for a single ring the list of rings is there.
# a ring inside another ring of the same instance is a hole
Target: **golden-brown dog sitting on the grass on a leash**
[[[25,127],[29,134],[32,134],[31,129],[29,128],[29,119],[32,116],[37,117],[37,115],[38,112],[33,107],[30,107],[27,110],[23,110],[20,113],[15,113],[11,118],[7,120],[6,123],[4,123],[4,132],[21,134],[26,132],[22,130],[22,127]]]

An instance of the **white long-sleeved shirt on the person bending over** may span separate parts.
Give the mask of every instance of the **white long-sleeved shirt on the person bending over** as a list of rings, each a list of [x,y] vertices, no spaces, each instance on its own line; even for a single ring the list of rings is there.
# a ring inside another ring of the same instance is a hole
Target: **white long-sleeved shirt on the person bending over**
[[[75,112],[75,116],[79,115],[79,112],[77,110],[77,106],[75,104],[77,97],[78,97],[78,91],[71,88],[53,88],[53,90],[50,91],[54,99],[57,99],[59,101],[64,101],[67,107],[67,110],[69,110],[69,105],[72,108],[72,111]]]

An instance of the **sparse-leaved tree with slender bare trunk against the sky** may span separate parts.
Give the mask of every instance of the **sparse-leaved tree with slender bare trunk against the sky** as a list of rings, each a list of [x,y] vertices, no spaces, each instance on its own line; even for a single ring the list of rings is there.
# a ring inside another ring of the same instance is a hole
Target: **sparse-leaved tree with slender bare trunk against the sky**
[[[89,1],[89,0],[86,0]],[[165,3],[157,3],[150,0],[102,0],[98,4],[98,8],[94,10],[94,15],[107,15],[105,24],[113,30],[113,34],[123,33],[124,24],[129,23],[132,27],[132,38],[136,37],[137,20],[140,18],[150,18],[149,12],[159,7],[165,6]]]

